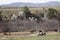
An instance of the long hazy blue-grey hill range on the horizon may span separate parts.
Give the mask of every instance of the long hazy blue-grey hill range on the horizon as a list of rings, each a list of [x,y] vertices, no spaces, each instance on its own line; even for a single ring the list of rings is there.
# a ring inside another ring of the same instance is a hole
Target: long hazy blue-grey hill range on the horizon
[[[9,7],[57,7],[60,6],[60,2],[57,1],[50,1],[46,3],[24,3],[24,2],[16,2],[11,4],[4,4],[0,6],[9,6]]]

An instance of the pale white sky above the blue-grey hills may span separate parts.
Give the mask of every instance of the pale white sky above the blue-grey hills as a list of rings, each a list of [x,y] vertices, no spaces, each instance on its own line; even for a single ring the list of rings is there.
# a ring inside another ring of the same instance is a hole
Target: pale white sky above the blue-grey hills
[[[49,2],[49,1],[58,1],[58,2],[60,2],[60,0],[0,0],[0,5],[10,4],[10,3],[15,3],[15,2],[44,3],[44,2]]]

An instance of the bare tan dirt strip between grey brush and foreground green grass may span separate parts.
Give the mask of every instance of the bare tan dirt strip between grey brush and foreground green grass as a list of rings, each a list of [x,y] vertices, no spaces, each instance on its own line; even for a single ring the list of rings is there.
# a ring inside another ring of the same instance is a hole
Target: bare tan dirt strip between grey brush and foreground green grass
[[[59,32],[47,32],[46,35],[55,35],[55,34],[60,34]],[[2,37],[23,37],[23,36],[37,36],[38,34],[30,33],[30,32],[12,32],[11,35],[3,35],[3,33],[0,33],[0,38]]]

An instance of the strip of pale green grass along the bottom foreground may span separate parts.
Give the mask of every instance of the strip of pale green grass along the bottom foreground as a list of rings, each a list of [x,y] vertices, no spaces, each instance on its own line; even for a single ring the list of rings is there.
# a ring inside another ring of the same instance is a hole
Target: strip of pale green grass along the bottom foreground
[[[43,36],[5,36],[0,37],[0,40],[60,40],[60,34],[48,34]]]

